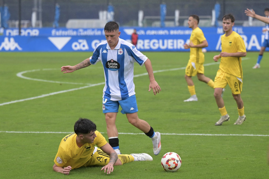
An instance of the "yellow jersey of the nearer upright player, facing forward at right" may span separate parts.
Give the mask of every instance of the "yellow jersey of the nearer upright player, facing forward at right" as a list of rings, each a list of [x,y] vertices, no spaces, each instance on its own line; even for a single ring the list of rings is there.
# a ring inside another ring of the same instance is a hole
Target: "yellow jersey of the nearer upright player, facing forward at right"
[[[223,34],[221,36],[221,52],[246,52],[244,40],[235,31],[227,37]],[[221,57],[219,68],[228,74],[243,78],[242,57]]]

